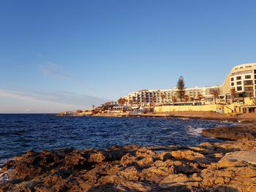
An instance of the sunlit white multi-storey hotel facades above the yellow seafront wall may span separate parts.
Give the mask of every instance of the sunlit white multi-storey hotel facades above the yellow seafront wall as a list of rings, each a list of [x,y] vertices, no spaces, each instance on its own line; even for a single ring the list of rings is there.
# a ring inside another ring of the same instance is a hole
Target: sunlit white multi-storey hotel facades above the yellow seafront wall
[[[218,93],[216,93],[216,90]],[[232,91],[231,91],[232,90]],[[214,93],[215,91],[215,93]],[[234,66],[222,85],[194,87],[185,89],[182,101],[178,98],[178,89],[144,89],[124,96],[127,105],[157,106],[174,105],[181,102],[200,101],[201,104],[231,104],[243,102],[245,98],[255,101],[256,98],[256,63]],[[232,93],[235,93],[232,96]]]

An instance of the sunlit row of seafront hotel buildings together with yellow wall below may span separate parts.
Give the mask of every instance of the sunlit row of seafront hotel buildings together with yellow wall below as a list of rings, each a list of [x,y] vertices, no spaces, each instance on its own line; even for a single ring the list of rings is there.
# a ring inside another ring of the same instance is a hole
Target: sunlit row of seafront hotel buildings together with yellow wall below
[[[178,98],[178,88],[143,89],[121,99],[121,106],[132,110],[256,112],[256,63],[234,66],[222,85],[186,88],[183,99]]]

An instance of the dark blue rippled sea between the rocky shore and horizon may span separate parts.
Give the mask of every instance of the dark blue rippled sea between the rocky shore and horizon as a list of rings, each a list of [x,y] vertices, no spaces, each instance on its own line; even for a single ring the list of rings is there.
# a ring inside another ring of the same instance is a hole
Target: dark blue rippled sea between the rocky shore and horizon
[[[203,128],[230,126],[177,118],[56,117],[49,114],[0,114],[0,160],[27,150],[107,148],[112,145],[197,145]]]

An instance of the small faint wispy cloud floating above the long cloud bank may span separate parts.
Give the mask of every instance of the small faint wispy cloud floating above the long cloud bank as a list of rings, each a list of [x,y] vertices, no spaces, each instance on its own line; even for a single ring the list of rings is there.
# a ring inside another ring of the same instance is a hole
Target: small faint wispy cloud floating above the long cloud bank
[[[71,75],[67,72],[63,66],[60,64],[53,63],[48,61],[45,64],[38,65],[39,71],[45,77],[61,77],[61,78],[70,78]]]

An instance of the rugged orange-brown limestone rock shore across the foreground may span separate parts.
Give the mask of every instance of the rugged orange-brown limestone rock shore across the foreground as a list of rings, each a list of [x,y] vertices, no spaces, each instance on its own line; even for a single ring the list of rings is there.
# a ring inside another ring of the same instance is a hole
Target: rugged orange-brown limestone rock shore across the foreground
[[[0,191],[256,191],[256,141],[195,147],[28,151],[0,167]]]

